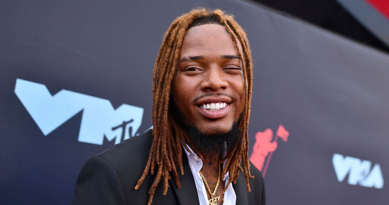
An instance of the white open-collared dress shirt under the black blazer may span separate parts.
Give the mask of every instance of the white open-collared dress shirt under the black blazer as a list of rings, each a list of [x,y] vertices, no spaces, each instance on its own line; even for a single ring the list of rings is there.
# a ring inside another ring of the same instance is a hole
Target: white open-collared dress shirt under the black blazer
[[[182,142],[181,142],[182,144]],[[203,183],[203,179],[200,176],[199,171],[203,167],[203,162],[202,160],[195,154],[193,153],[193,150],[187,145],[189,150],[191,150],[192,153],[189,153],[186,151],[184,148],[184,151],[186,153],[186,157],[188,158],[189,162],[189,167],[191,168],[193,178],[195,179],[195,184],[196,184],[196,190],[197,190],[197,195],[198,195],[198,200],[200,202],[200,205],[209,205],[208,204],[208,196],[207,196],[207,190],[205,189],[205,185]],[[226,161],[223,162],[223,169],[225,166]],[[225,182],[225,185],[227,185],[228,180],[230,177],[228,176],[228,172],[224,177],[222,177],[222,180]],[[210,187],[212,189],[211,191],[214,190],[214,187]],[[224,205],[235,205],[237,201],[237,195],[235,195],[234,188],[232,187],[232,184],[228,186],[226,193],[224,193]]]

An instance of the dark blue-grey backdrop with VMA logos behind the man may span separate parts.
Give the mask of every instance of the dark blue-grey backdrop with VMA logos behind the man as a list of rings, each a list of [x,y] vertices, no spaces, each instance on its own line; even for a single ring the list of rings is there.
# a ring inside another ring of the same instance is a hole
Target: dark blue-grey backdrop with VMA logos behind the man
[[[152,126],[163,34],[197,6],[247,31],[268,204],[389,202],[388,55],[237,0],[37,0],[0,5],[2,204],[70,204],[88,158]]]

